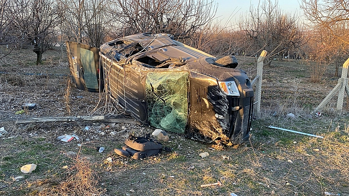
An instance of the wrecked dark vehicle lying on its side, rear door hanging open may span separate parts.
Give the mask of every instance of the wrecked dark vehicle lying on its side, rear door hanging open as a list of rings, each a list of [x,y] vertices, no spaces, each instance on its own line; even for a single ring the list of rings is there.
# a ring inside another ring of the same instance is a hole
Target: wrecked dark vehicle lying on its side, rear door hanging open
[[[67,43],[79,89],[107,95],[141,124],[205,142],[249,137],[253,90],[235,56],[216,59],[172,39],[140,33],[99,49]]]

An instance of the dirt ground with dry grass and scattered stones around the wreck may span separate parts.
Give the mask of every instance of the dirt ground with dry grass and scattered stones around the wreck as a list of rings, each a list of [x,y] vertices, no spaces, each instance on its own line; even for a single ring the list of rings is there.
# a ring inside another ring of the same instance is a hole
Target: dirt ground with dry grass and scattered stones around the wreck
[[[31,117],[101,114],[133,120],[98,93],[80,91],[69,83],[65,52],[46,52],[40,65],[35,65],[35,58],[23,49],[0,60],[0,127],[7,132],[0,136],[1,196],[64,196],[79,188],[90,191],[84,195],[101,196],[349,196],[347,99],[344,113],[334,112],[334,97],[321,116],[310,114],[337,84],[333,67],[327,68],[320,83],[310,82],[309,67],[299,60],[278,59],[264,67],[262,116],[253,120],[251,138],[244,144],[219,146],[169,133],[171,141],[164,145],[171,152],[133,160],[116,155],[114,148],[123,146],[129,134],[144,136],[154,128],[137,122],[19,123]],[[252,80],[256,59],[238,59]],[[22,110],[25,103],[37,107]],[[124,129],[125,133],[110,135]],[[64,134],[80,140],[57,140]],[[105,151],[99,153],[101,146]],[[201,152],[209,156],[201,158]],[[26,164],[37,168],[24,174],[20,168]],[[81,171],[86,178],[79,178]],[[217,180],[223,186],[200,187]]]

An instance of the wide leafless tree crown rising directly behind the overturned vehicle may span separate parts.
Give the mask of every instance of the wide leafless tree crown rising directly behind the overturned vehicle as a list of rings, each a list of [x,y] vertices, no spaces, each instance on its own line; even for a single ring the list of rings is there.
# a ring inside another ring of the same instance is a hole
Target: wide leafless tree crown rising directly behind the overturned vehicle
[[[216,12],[210,0],[114,0],[120,8],[116,28],[121,36],[140,32],[169,33],[187,39],[211,22]]]

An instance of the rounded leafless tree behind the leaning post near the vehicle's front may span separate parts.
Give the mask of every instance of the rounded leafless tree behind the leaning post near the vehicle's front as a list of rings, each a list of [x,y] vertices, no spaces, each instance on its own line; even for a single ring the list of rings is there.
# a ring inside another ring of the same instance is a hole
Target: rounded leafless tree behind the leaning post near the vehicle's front
[[[295,15],[283,13],[277,1],[265,0],[261,6],[250,7],[240,18],[239,26],[245,34],[245,48],[250,55],[267,50],[268,56],[296,51],[304,44],[303,29]],[[269,61],[271,62],[271,61]]]

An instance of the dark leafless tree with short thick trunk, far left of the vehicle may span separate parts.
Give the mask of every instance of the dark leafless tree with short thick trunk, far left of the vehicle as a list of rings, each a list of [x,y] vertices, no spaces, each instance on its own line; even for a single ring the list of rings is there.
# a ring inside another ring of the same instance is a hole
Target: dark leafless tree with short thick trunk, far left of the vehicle
[[[22,44],[30,44],[36,54],[36,64],[42,53],[52,46],[53,29],[60,18],[54,0],[11,0],[10,13],[16,13],[11,23]]]

